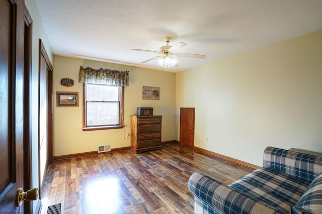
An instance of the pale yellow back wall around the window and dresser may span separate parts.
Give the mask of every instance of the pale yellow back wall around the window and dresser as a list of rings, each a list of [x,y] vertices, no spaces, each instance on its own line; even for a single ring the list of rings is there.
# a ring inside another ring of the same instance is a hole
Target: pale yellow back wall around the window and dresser
[[[78,82],[79,66],[95,69],[128,70],[129,86],[124,89],[124,129],[82,131],[83,83]],[[79,92],[79,107],[57,108],[54,106],[54,156],[97,151],[98,146],[111,145],[112,149],[129,147],[130,115],[138,106],[153,107],[154,115],[163,115],[162,141],[176,140],[175,84],[176,74],[132,66],[54,56],[54,93],[56,91]],[[74,86],[60,85],[61,78],[71,78]],[[160,87],[159,100],[142,99],[142,86]],[[56,103],[56,95],[54,95]]]

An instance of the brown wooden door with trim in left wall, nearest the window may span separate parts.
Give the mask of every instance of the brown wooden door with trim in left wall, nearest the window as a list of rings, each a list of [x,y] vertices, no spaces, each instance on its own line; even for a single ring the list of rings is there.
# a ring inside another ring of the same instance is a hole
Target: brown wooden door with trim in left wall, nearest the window
[[[52,64],[39,40],[39,192],[53,162],[52,149]]]

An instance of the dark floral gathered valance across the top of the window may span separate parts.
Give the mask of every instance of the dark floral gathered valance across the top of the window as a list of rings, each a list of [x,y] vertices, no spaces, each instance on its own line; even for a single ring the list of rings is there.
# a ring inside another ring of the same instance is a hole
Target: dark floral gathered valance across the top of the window
[[[79,68],[78,82],[100,84],[100,85],[115,85],[129,86],[129,72],[117,71],[100,68],[98,70],[91,67],[84,68],[82,65]]]

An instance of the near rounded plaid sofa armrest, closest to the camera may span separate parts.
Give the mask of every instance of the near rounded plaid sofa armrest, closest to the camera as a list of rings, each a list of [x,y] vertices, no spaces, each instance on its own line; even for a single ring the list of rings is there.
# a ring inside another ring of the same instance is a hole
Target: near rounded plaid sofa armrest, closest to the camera
[[[188,188],[195,197],[208,203],[219,213],[279,213],[276,208],[256,201],[200,172],[190,176]]]

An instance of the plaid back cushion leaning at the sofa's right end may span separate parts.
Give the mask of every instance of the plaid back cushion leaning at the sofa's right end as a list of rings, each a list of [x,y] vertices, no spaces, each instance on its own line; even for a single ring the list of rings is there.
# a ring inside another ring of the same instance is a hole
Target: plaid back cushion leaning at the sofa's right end
[[[311,213],[322,213],[322,173],[307,187],[296,205]]]

